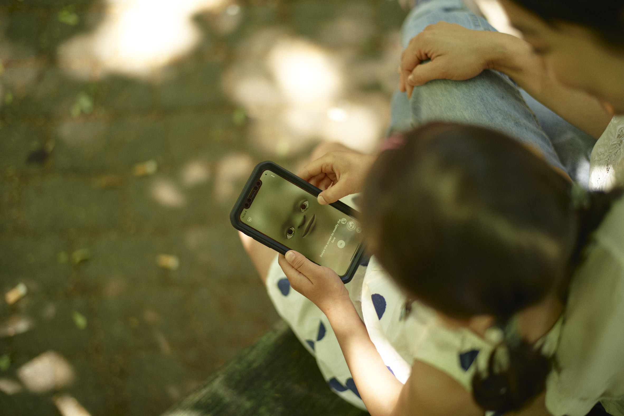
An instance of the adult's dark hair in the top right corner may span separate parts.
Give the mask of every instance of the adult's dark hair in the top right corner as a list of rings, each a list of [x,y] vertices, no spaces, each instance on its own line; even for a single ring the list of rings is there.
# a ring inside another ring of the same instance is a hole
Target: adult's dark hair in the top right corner
[[[547,22],[567,21],[592,29],[603,41],[624,49],[621,0],[512,0]]]

